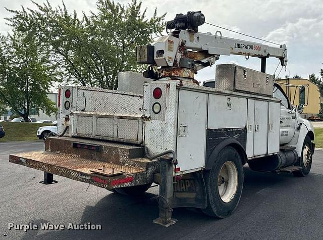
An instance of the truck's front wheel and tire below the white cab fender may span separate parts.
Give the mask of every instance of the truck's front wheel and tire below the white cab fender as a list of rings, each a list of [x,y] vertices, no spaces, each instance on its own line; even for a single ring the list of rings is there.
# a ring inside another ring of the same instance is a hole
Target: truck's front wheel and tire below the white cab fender
[[[293,174],[297,177],[305,177],[312,167],[312,159],[313,159],[313,148],[312,142],[309,136],[306,136],[303,143],[303,149],[301,153],[301,157],[299,158],[297,166],[303,167],[301,170],[294,171]]]

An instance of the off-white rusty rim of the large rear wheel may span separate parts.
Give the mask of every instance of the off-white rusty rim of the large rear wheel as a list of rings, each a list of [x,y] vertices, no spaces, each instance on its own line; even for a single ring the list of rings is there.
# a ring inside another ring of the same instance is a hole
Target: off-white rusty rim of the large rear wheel
[[[223,202],[229,203],[236,195],[238,187],[238,170],[232,161],[225,162],[218,176],[218,190]]]

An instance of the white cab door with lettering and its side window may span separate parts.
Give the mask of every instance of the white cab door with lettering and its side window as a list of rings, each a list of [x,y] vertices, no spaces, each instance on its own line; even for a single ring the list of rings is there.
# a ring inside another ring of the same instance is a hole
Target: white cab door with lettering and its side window
[[[292,113],[292,105],[278,84],[274,87],[274,97],[281,100],[280,145],[283,145],[290,142],[295,134],[295,113]]]

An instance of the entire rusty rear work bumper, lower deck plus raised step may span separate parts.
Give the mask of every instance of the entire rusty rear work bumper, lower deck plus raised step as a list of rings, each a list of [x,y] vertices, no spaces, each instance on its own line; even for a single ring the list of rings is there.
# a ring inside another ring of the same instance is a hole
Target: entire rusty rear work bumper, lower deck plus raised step
[[[44,152],[10,155],[10,162],[106,189],[153,182],[159,161],[144,148],[72,137],[48,137]]]

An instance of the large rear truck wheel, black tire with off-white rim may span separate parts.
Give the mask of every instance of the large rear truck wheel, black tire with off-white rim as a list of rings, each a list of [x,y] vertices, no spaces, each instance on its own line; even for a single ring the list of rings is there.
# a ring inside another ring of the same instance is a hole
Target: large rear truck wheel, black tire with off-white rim
[[[218,154],[210,170],[203,172],[208,216],[225,218],[233,213],[240,201],[243,188],[243,167],[238,151],[227,146]]]

